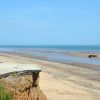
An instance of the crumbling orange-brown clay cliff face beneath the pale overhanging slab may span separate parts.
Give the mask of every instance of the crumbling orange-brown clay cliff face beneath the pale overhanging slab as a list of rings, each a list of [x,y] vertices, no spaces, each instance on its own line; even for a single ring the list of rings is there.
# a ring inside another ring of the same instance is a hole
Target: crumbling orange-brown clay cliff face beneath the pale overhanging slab
[[[46,100],[39,88],[39,73],[31,75],[10,75],[2,78],[6,90],[12,94],[12,100]]]

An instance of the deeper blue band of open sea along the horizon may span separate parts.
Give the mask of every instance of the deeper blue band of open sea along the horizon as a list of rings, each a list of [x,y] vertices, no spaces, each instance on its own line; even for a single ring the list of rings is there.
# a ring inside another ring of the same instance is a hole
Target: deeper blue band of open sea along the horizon
[[[0,46],[0,50],[45,49],[61,51],[100,52],[100,46]]]

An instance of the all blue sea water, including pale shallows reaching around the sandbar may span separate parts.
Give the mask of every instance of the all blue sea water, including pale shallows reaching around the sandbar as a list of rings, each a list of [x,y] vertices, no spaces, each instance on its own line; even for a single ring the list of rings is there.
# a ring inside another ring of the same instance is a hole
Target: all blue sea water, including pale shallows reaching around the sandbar
[[[61,52],[89,52],[89,53],[100,53],[100,46],[1,46],[0,51],[6,52],[16,52],[16,53],[24,53],[29,54],[35,57],[45,57],[50,61],[57,62],[79,62],[79,63],[87,63],[98,65],[100,69],[100,60],[98,59],[89,59],[84,57],[75,57],[64,55]]]

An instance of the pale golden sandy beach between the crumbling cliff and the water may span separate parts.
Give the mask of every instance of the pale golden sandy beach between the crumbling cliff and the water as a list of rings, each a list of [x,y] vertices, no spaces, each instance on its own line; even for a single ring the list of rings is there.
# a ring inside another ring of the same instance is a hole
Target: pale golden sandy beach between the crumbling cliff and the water
[[[0,62],[39,65],[40,88],[48,100],[100,100],[100,71],[89,64],[64,64],[14,53],[0,53]]]

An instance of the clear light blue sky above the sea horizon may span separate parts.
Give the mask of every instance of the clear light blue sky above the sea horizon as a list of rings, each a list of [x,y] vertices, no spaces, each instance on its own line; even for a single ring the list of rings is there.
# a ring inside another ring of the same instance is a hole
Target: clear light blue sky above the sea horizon
[[[0,45],[100,45],[100,0],[0,0]]]

